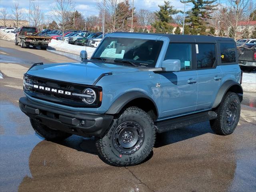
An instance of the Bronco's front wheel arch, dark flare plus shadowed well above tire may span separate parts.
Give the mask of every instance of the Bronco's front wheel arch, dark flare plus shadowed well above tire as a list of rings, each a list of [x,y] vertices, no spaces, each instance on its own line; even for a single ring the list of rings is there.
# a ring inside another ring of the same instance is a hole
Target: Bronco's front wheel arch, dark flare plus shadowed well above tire
[[[158,108],[152,98],[138,91],[128,92],[120,96],[108,109],[106,114],[120,114],[123,109],[136,106],[146,112],[153,111],[150,116],[153,120],[158,118]]]

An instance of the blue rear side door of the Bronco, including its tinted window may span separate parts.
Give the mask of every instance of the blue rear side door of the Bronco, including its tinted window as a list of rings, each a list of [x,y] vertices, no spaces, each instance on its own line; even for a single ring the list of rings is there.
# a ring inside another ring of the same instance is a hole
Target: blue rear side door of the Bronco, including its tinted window
[[[222,70],[217,66],[215,43],[196,44],[198,99],[196,111],[210,109],[222,84]]]

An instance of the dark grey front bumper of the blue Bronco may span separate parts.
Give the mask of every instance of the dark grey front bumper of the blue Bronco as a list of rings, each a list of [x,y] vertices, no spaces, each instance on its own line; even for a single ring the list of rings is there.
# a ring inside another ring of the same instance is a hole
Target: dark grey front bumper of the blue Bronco
[[[50,128],[84,137],[102,136],[113,121],[111,115],[64,110],[31,101],[27,97],[20,98],[19,105],[28,117]],[[84,120],[84,125],[81,120]]]

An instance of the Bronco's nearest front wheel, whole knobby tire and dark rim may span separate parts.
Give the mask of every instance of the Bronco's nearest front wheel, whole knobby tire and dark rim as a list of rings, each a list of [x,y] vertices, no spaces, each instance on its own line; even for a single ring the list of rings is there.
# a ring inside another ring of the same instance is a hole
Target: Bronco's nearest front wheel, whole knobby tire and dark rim
[[[142,163],[156,140],[152,118],[137,107],[127,108],[106,134],[96,141],[100,157],[113,166]]]

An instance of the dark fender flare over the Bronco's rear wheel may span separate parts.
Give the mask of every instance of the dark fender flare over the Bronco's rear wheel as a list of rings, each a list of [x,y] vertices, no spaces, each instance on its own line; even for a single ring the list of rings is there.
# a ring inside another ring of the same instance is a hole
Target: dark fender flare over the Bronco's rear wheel
[[[242,96],[243,96],[242,86],[237,82],[228,80],[224,84],[222,84],[222,86],[220,87],[220,89],[216,95],[216,98],[214,100],[214,103],[212,105],[212,108],[216,108],[220,104],[220,102],[222,102],[222,99],[225,96],[225,94],[228,92],[229,88],[231,88],[234,85],[238,86],[238,90],[236,91],[236,93],[238,94],[240,101],[242,101]]]

